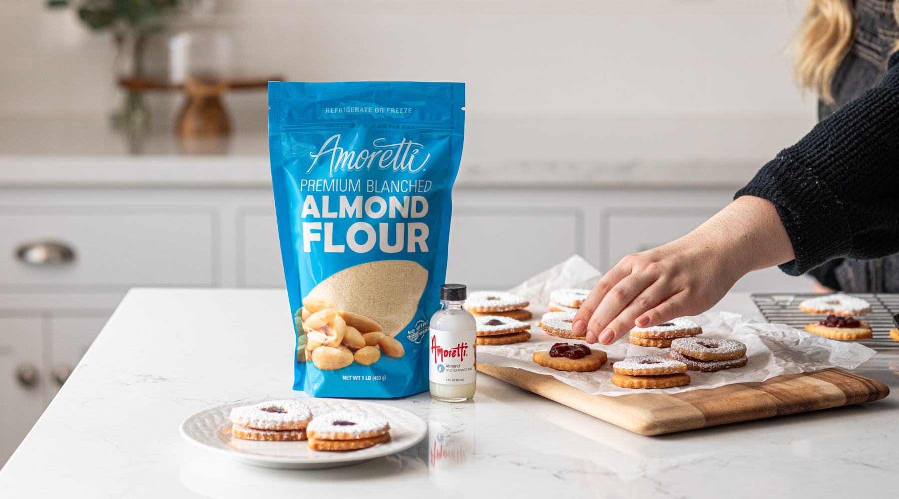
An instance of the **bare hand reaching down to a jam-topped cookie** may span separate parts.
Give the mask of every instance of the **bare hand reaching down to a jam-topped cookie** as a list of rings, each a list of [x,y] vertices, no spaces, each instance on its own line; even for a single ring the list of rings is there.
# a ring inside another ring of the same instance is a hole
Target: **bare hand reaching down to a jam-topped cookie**
[[[621,258],[574,315],[588,343],[618,341],[714,306],[752,270],[793,259],[793,245],[774,205],[743,196],[677,241]]]

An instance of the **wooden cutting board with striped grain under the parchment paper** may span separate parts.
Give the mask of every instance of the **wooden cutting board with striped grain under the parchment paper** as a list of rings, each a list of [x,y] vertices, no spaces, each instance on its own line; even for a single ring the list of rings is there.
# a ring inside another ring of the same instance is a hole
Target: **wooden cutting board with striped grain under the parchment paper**
[[[674,395],[634,393],[620,397],[590,395],[547,374],[514,367],[478,363],[477,370],[641,435],[860,404],[890,393],[880,381],[835,368]]]

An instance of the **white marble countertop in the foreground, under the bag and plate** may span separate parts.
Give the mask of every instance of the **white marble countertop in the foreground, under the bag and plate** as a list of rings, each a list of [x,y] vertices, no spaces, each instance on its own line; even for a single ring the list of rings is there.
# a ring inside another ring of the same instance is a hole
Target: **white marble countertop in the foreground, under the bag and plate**
[[[757,316],[747,294],[716,307]],[[184,442],[186,416],[290,398],[283,291],[135,289],[0,470],[18,497],[790,497],[895,494],[899,356],[857,372],[888,398],[647,437],[478,374],[473,402],[383,400],[444,428],[351,468],[253,468]]]

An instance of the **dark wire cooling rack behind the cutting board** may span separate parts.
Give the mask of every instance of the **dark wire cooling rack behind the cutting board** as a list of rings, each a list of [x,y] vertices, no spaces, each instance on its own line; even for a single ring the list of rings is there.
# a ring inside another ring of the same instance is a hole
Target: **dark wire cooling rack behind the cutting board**
[[[871,348],[899,348],[899,342],[890,337],[893,316],[899,313],[899,294],[894,293],[847,293],[866,300],[871,304],[871,313],[856,319],[864,320],[871,325],[870,339],[860,339],[860,343]],[[799,310],[799,303],[806,298],[814,298],[820,294],[787,294],[787,293],[752,293],[752,302],[759,307],[761,315],[769,322],[787,324],[793,328],[804,330],[806,325],[824,318],[823,314],[806,313]]]

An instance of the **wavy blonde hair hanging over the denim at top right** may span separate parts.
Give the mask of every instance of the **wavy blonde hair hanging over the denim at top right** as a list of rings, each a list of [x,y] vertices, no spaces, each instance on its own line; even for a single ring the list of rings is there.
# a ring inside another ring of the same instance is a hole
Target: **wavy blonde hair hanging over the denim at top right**
[[[893,4],[893,14],[899,19],[899,1]],[[816,92],[824,102],[833,102],[833,73],[852,47],[855,27],[854,0],[808,0],[793,57],[793,73],[800,87]]]

